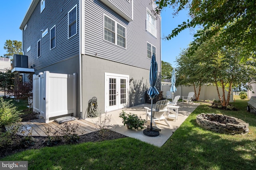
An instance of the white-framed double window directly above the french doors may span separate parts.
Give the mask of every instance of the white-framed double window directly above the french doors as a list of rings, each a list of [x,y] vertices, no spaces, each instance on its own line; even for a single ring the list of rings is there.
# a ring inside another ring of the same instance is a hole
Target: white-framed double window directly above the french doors
[[[126,28],[104,15],[104,40],[126,48]]]

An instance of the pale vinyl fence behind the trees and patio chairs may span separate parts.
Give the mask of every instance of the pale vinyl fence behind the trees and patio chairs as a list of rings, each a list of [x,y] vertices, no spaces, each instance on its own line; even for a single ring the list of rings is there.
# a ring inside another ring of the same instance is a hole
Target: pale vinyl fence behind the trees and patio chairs
[[[164,98],[166,98],[166,91],[169,91],[171,88],[171,83],[170,82],[161,82],[161,90],[163,91]],[[189,92],[194,92],[194,86],[176,86],[177,91],[174,93],[175,96],[188,96]],[[222,88],[218,88],[220,92],[220,96],[222,97]],[[196,88],[196,93],[198,94],[198,88]],[[227,99],[227,94],[228,91],[225,90],[226,94],[226,99]],[[194,96],[195,98],[195,96]],[[200,91],[200,100],[219,100],[218,98],[218,93],[216,86],[214,85],[203,85],[201,87]],[[231,90],[231,95],[230,95],[230,102],[234,101],[234,96],[233,96],[233,89]]]

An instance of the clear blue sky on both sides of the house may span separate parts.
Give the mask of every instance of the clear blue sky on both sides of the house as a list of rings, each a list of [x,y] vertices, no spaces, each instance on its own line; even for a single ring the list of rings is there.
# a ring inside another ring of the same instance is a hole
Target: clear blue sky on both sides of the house
[[[0,56],[4,56],[4,43],[7,39],[22,41],[22,31],[20,24],[30,6],[31,0],[0,0]],[[162,33],[168,35],[178,24],[188,20],[187,12],[182,12],[178,16],[172,17],[171,8],[166,8],[162,14]],[[193,41],[193,36],[189,29],[182,31],[177,37],[167,41],[162,40],[162,61],[175,66],[176,57],[180,51]]]

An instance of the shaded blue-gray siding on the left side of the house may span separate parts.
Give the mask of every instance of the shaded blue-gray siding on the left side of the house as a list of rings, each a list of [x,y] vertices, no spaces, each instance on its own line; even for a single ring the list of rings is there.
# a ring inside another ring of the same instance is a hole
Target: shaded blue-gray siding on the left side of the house
[[[45,8],[40,13],[40,2],[30,16],[23,32],[23,51],[28,55],[28,66],[34,64],[36,70],[59,63],[79,55],[79,0],[45,1]],[[77,33],[68,39],[68,11],[77,5]],[[56,25],[56,47],[50,49],[50,29]],[[40,30],[48,29],[42,37]],[[41,39],[41,56],[37,57],[37,41]],[[28,47],[30,51],[27,52]],[[50,71],[50,70],[49,70]]]

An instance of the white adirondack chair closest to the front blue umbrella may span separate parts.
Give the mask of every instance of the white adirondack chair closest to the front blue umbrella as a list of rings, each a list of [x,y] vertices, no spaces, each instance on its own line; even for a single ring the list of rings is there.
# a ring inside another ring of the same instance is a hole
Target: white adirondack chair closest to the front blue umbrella
[[[166,111],[168,111],[167,107],[169,104],[169,100],[160,100],[158,102],[156,102],[156,107],[155,109],[153,109],[151,111],[150,108],[148,107],[144,107],[146,109],[146,120],[151,119],[151,114],[152,114],[152,123],[154,123],[154,125],[156,127],[158,127],[156,125],[155,121],[165,121],[165,123],[170,126],[170,124],[167,122],[166,118],[164,117],[164,113],[166,113]]]

